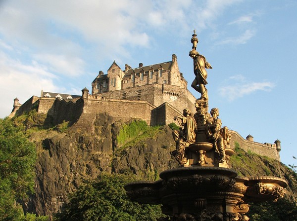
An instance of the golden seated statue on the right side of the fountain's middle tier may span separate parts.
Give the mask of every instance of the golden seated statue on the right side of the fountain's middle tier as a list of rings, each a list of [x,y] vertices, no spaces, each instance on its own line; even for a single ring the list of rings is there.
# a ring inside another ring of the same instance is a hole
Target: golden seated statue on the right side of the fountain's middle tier
[[[218,118],[219,109],[213,108],[210,111],[211,117],[206,121],[205,133],[206,137],[213,143],[214,150],[219,156],[219,163],[224,163],[226,158],[225,150],[230,147],[230,138],[228,127],[222,126],[222,121]]]

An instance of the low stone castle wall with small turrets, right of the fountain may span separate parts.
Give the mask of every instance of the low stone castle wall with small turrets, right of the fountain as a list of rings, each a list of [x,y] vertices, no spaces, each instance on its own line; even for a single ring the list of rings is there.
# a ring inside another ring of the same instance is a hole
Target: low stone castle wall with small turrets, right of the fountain
[[[231,147],[235,148],[235,142],[238,142],[240,147],[246,151],[251,151],[253,153],[268,156],[272,159],[276,159],[281,161],[280,154],[276,149],[275,144],[261,144],[253,141],[245,140],[242,136],[240,136],[236,131],[231,131]]]

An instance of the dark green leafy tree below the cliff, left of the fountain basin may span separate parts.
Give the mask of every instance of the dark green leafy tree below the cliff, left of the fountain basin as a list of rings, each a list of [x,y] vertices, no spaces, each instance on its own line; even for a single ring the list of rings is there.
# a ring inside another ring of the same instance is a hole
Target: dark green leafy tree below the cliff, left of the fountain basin
[[[128,199],[124,185],[134,175],[101,173],[70,194],[54,221],[155,221],[162,216],[157,205],[140,205]]]

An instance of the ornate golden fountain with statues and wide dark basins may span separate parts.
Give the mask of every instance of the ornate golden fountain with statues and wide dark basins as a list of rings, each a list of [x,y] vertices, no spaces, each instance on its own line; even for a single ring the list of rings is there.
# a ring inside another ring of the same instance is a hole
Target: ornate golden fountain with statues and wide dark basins
[[[184,109],[174,119],[180,130],[173,131],[180,167],[160,173],[156,182],[127,184],[127,195],[139,203],[161,204],[166,218],[158,221],[248,221],[248,202],[276,201],[284,196],[287,183],[277,177],[240,177],[230,169],[231,134],[222,127],[219,110],[208,112],[207,72],[211,69],[196,51],[198,38],[192,35],[190,56],[194,61],[192,87],[201,97],[196,113]]]

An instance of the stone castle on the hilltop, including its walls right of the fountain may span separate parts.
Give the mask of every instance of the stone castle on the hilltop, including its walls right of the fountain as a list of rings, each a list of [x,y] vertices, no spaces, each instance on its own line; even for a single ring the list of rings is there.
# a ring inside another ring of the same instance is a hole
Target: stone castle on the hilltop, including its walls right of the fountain
[[[114,120],[140,118],[151,126],[168,125],[174,122],[174,116],[182,115],[185,108],[196,112],[196,98],[187,85],[175,54],[171,61],[159,64],[144,66],[140,63],[138,68],[126,64],[124,71],[114,61],[107,74],[99,71],[92,82],[91,94],[87,88],[82,90],[81,96],[41,91],[40,97],[32,96],[22,105],[15,98],[9,117],[35,108],[55,125],[65,120],[79,127],[92,123],[101,112],[107,112]],[[234,141],[231,147],[237,142],[246,151],[280,160],[280,141],[261,144],[254,142],[250,135],[244,139],[236,131],[231,133]]]

